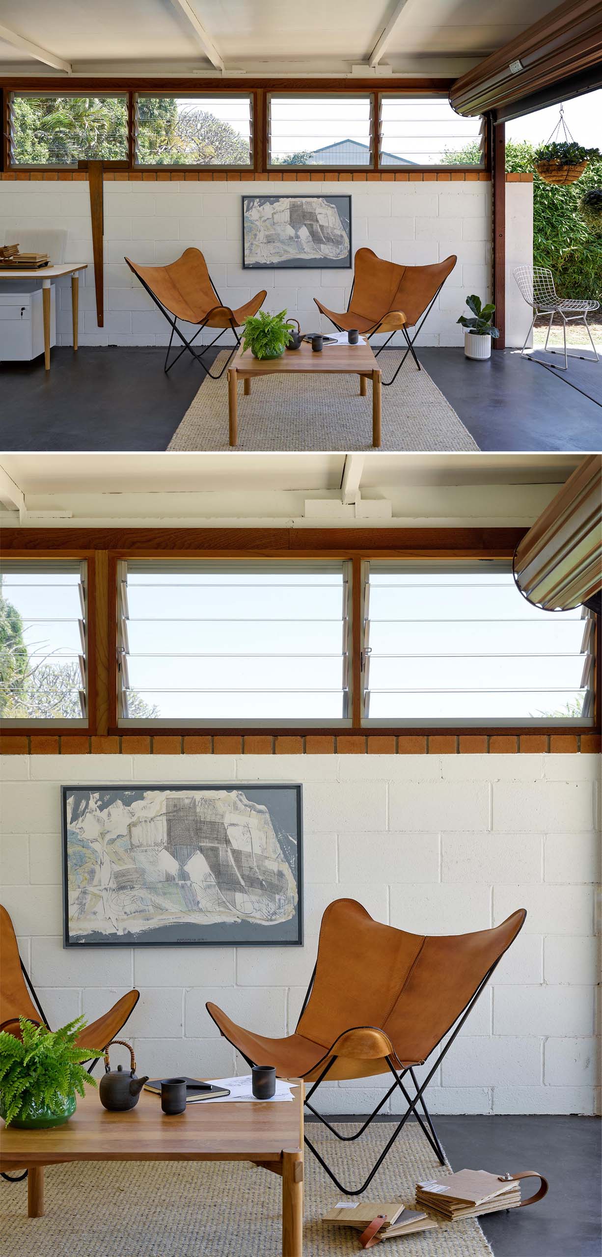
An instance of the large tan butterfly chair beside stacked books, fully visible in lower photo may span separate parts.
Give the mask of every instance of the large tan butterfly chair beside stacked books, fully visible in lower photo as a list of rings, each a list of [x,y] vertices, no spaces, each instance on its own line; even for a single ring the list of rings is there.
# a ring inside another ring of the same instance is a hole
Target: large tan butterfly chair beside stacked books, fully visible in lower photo
[[[353,899],[337,899],[322,918],[318,959],[294,1035],[266,1038],[236,1026],[215,1004],[207,1003],[207,1012],[249,1065],[274,1065],[279,1077],[313,1082],[305,1105],[338,1139],[357,1139],[393,1091],[401,1090],[408,1107],[362,1187],[344,1188],[305,1138],[337,1188],[358,1195],[412,1112],[444,1164],[424,1091],[525,916],[519,909],[491,930],[429,936],[381,925]],[[415,1066],[424,1065],[450,1031],[419,1086]],[[327,1076],[334,1081],[376,1073],[392,1073],[393,1084],[354,1135],[339,1135],[309,1104]],[[413,1099],[403,1084],[407,1075]]]

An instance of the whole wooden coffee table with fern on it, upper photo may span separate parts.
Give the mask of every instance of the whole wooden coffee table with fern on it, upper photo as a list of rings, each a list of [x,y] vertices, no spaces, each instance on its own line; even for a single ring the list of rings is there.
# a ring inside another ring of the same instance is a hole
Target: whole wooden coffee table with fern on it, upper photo
[[[236,445],[239,432],[238,383],[244,380],[244,395],[251,391],[251,380],[261,376],[297,372],[299,375],[356,375],[359,376],[359,396],[367,395],[368,376],[372,378],[372,445],[381,444],[381,376],[382,372],[367,341],[359,344],[327,344],[322,353],[314,353],[308,341],[299,349],[285,349],[280,358],[254,358],[250,349],[236,351],[227,370],[227,402],[230,416],[230,445]]]

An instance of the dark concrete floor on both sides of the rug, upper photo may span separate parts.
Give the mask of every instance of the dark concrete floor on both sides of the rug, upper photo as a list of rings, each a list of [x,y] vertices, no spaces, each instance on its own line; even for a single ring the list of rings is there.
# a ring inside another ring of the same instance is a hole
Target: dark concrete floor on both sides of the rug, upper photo
[[[217,351],[211,351],[211,358]],[[165,450],[204,375],[186,356],[163,375],[160,348],[69,348],[0,366],[0,449]],[[602,363],[561,373],[512,351],[468,362],[464,349],[419,351],[481,450],[599,450]],[[207,354],[209,362],[210,354]],[[387,375],[386,356],[381,358]]]

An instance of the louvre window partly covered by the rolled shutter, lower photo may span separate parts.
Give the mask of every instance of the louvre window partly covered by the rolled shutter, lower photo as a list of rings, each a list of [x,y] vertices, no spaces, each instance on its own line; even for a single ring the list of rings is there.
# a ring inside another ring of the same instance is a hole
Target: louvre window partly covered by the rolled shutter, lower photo
[[[592,723],[593,617],[539,611],[508,563],[371,563],[364,718],[391,724]]]

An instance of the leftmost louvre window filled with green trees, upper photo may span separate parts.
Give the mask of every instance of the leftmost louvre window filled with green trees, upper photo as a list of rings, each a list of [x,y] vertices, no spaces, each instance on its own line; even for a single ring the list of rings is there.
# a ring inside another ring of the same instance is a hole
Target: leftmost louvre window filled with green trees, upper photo
[[[14,166],[75,166],[128,158],[128,98],[15,92],[9,104]]]

